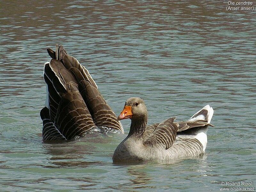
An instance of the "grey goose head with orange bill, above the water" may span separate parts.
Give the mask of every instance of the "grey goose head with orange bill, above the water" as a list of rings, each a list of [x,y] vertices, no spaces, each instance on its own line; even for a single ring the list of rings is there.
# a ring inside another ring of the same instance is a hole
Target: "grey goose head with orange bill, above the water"
[[[124,109],[118,116],[118,120],[122,119],[147,119],[148,111],[144,101],[139,97],[131,97],[126,100]]]

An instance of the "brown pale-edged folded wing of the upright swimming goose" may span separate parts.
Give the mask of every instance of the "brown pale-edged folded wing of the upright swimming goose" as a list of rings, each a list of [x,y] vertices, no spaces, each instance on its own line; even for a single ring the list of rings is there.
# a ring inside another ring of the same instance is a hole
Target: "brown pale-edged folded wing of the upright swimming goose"
[[[174,118],[167,119],[155,128],[155,130],[143,142],[144,145],[153,147],[155,145],[164,145],[169,149],[175,142],[178,127],[173,123]]]

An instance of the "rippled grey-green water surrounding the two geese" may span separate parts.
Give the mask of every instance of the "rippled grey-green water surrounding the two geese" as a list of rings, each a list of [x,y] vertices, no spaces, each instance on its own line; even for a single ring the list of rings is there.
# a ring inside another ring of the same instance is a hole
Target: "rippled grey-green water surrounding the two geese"
[[[255,175],[255,12],[215,1],[9,1],[0,3],[2,191],[218,191]],[[206,155],[117,165],[126,134],[42,142],[43,65],[63,44],[92,74],[118,114],[127,98],[149,123],[214,108]],[[255,187],[255,186],[254,186]]]

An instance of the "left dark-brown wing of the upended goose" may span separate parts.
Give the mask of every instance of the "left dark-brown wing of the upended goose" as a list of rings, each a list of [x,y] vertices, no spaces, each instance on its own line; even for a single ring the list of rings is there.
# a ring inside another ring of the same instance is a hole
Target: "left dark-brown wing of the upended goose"
[[[76,78],[56,59],[45,64],[48,104],[42,111],[43,140],[69,140],[95,126],[82,98]],[[49,113],[49,118],[47,117]],[[43,116],[44,114],[44,116]]]

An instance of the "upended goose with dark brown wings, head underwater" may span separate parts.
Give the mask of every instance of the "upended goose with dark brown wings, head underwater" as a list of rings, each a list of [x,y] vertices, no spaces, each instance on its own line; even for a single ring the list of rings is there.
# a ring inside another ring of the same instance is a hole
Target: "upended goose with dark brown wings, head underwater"
[[[47,51],[52,59],[44,65],[47,95],[40,111],[43,140],[71,140],[96,126],[124,133],[88,70],[62,45],[56,45],[56,52]]]

